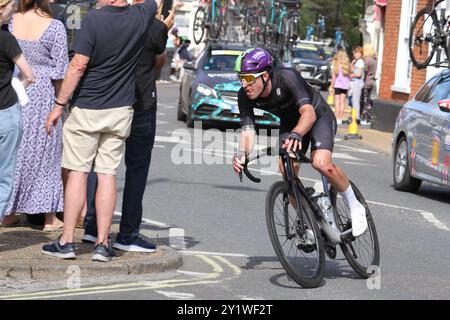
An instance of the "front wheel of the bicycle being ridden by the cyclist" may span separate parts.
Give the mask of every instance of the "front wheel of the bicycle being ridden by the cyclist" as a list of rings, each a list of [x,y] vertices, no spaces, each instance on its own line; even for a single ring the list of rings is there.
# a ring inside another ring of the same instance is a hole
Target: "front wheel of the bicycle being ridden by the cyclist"
[[[288,184],[274,183],[266,196],[266,222],[275,253],[287,274],[304,288],[315,288],[325,271],[325,249],[317,221],[301,198],[299,215],[288,197]],[[303,221],[306,232],[300,229]]]

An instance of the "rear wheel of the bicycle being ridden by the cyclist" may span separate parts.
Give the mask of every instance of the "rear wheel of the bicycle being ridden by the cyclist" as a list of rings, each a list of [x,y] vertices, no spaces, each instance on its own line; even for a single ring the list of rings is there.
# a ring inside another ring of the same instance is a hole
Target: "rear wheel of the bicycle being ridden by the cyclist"
[[[353,270],[364,279],[367,279],[374,273],[372,268],[380,266],[380,245],[369,206],[355,184],[351,181],[350,184],[356,199],[366,208],[368,227],[359,237],[355,238],[350,235],[350,238],[342,242],[340,246]],[[338,229],[341,232],[349,230],[352,227],[350,209],[344,198],[338,196],[336,189],[330,188],[330,200]]]

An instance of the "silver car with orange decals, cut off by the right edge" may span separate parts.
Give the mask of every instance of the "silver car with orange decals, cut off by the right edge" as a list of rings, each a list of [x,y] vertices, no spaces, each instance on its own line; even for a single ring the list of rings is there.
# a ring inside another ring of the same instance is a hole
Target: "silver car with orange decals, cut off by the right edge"
[[[395,189],[415,192],[422,181],[449,185],[450,70],[428,80],[402,107],[392,150]]]

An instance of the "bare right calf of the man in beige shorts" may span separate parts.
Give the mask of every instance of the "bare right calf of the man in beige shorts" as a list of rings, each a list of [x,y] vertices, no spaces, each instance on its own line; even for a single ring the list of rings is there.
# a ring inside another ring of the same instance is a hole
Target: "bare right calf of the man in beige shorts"
[[[97,173],[98,186],[95,197],[97,212],[97,243],[108,245],[108,235],[111,228],[112,217],[116,207],[116,176],[112,174]]]

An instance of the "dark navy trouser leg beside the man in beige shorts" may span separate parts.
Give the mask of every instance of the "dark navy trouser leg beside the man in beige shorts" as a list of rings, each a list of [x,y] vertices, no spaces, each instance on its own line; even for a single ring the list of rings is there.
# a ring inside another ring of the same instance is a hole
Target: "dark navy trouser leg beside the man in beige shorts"
[[[132,241],[139,236],[142,199],[155,141],[156,111],[135,112],[125,149],[125,188],[122,201],[120,234]]]

